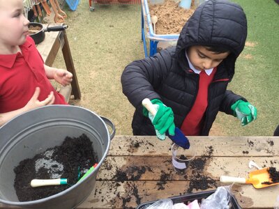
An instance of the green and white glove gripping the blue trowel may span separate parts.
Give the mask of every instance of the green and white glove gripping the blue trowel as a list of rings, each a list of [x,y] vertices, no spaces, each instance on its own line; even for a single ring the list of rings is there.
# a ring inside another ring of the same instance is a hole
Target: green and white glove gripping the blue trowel
[[[158,130],[160,134],[165,134],[165,132],[168,131],[170,135],[174,135],[175,125],[174,112],[172,111],[172,108],[165,106],[165,104],[163,104],[163,102],[161,102],[158,99],[151,100],[151,103],[156,106],[156,115],[152,116],[149,113],[149,111],[144,107],[144,116],[149,116],[149,118],[152,121],[152,124],[155,127],[155,130]],[[160,137],[158,138],[161,139]],[[163,139],[165,139],[165,137],[163,137]]]

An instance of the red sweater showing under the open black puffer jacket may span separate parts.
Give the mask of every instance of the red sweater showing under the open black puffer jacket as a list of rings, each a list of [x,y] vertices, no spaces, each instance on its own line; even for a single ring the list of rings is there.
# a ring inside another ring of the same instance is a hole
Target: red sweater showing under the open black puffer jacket
[[[199,91],[197,92],[197,98],[181,125],[181,131],[186,136],[199,136],[202,130],[204,112],[208,104],[209,84],[212,82],[215,73],[216,68],[213,69],[211,75],[207,75],[204,71],[199,73]]]

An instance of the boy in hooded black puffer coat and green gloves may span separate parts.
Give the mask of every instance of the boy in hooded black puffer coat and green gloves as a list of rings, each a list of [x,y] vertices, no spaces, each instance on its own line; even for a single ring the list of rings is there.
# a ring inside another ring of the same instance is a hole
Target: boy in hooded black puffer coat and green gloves
[[[155,135],[155,127],[173,135],[176,126],[188,136],[206,136],[218,111],[236,116],[241,125],[255,120],[257,109],[227,90],[246,36],[241,6],[209,0],[183,26],[176,47],[126,66],[121,83],[135,107],[133,134]],[[144,98],[155,105],[154,118],[142,107]]]

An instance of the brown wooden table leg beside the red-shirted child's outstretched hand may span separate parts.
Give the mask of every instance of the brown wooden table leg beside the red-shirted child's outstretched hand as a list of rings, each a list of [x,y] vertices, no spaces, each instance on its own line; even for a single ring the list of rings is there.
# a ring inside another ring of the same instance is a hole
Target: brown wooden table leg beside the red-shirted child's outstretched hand
[[[69,47],[66,31],[63,31],[63,35],[64,35],[64,45],[62,47],[63,58],[65,61],[67,70],[73,74],[73,81],[71,83],[72,95],[74,95],[75,100],[80,100],[82,95],[80,93],[80,86],[77,82],[77,75],[75,73],[75,66],[73,63],[72,55],[70,54],[70,47]]]

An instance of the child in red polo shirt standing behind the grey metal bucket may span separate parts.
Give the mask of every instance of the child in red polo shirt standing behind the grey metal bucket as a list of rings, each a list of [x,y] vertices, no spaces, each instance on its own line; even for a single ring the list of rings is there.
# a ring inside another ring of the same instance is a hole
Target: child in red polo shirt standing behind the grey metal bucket
[[[73,75],[44,64],[28,35],[22,0],[0,0],[0,125],[48,104],[67,104],[49,79],[63,86]]]

